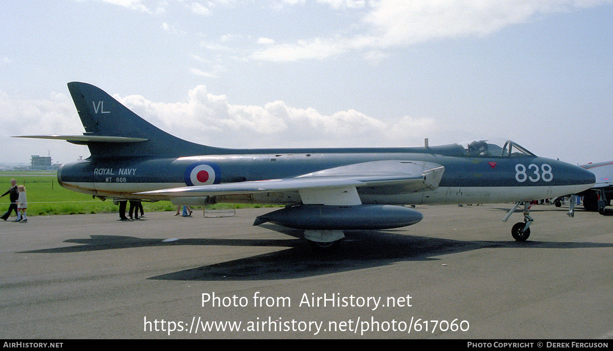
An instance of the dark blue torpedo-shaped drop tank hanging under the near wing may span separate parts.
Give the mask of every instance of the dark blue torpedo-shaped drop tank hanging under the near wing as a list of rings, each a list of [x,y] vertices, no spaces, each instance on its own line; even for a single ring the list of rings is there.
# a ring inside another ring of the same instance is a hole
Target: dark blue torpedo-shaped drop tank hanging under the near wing
[[[379,230],[406,227],[423,218],[414,209],[394,205],[302,205],[263,214],[253,225],[272,222],[307,230]]]

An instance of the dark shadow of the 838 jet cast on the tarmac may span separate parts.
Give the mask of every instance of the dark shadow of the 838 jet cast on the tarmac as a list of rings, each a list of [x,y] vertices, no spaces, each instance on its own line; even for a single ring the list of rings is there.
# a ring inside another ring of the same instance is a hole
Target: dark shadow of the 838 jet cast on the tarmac
[[[278,225],[268,225],[267,228],[291,236],[298,236],[300,233],[299,230]],[[295,279],[342,271],[362,270],[391,265],[396,262],[438,260],[435,258],[436,256],[486,247],[531,247],[535,249],[613,247],[613,244],[609,243],[459,241],[398,234],[393,230],[347,232],[346,239],[338,247],[326,251],[315,249],[311,243],[299,238],[289,240],[202,238],[164,242],[161,239],[142,239],[132,236],[92,235],[90,239],[66,240],[65,242],[82,245],[26,252],[69,253],[171,245],[289,247],[281,251],[149,278],[175,281],[251,281]]]

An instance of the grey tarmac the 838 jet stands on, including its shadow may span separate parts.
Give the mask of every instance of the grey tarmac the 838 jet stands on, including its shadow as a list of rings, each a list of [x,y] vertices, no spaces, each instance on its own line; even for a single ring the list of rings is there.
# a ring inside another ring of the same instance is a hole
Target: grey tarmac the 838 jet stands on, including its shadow
[[[0,338],[613,338],[613,216],[536,206],[518,243],[510,208],[417,206],[331,251],[251,225],[272,209],[0,222]]]

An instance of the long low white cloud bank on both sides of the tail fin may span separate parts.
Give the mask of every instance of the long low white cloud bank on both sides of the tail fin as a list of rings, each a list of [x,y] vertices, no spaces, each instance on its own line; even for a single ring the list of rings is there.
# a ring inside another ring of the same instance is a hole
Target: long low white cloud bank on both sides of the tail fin
[[[211,94],[204,85],[191,89],[183,102],[154,102],[140,95],[113,97],[170,134],[227,148],[420,146],[424,137],[444,138],[451,134],[435,119],[425,117],[382,121],[356,110],[324,115],[314,108],[291,107],[280,100],[263,106],[232,104],[229,97]],[[0,137],[82,132],[72,99],[66,94],[54,93],[42,100],[15,100],[0,91]],[[37,145],[43,142],[37,141]],[[51,146],[39,149],[59,146],[68,150],[64,154],[83,155],[82,149],[67,143],[46,145]]]

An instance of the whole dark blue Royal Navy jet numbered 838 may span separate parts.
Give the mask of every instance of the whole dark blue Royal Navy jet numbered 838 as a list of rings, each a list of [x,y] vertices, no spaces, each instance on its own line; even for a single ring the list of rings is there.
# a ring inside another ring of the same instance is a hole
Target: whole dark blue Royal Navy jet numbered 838
[[[158,129],[93,85],[72,82],[68,89],[85,133],[23,136],[88,146],[90,157],[59,168],[63,187],[102,200],[285,205],[254,225],[303,229],[320,246],[340,240],[344,230],[415,224],[422,214],[403,205],[421,204],[523,202],[524,222],[512,236],[524,241],[533,221],[528,202],[595,183],[584,168],[535,156],[510,140],[406,148],[199,145]]]

